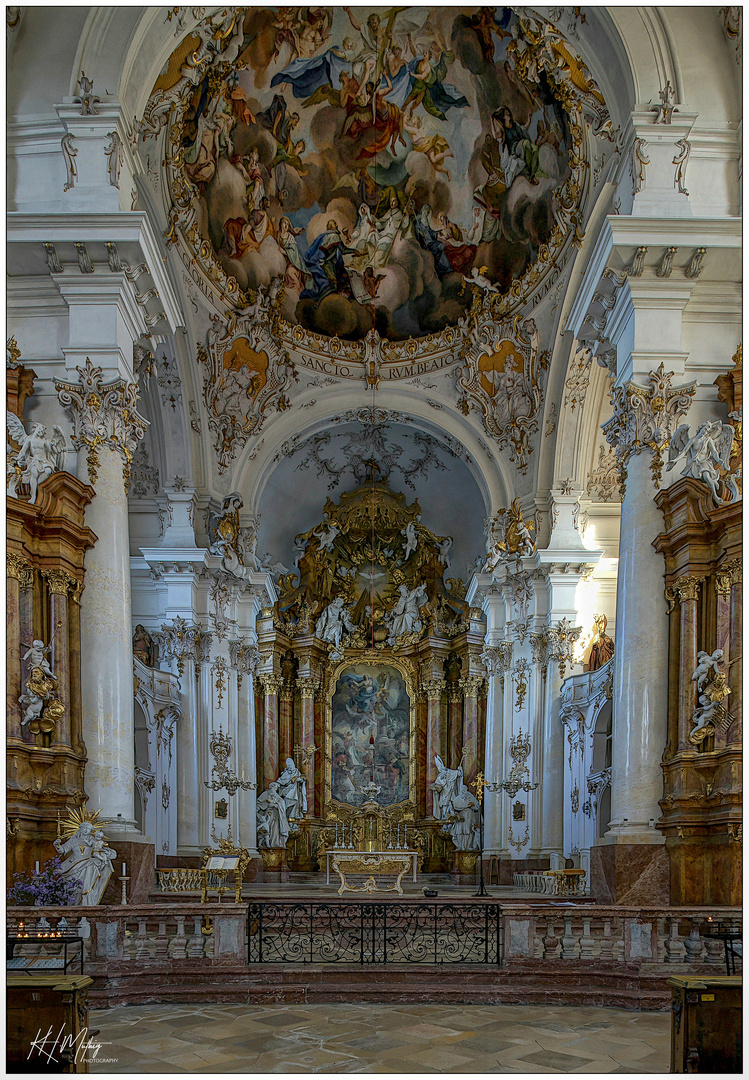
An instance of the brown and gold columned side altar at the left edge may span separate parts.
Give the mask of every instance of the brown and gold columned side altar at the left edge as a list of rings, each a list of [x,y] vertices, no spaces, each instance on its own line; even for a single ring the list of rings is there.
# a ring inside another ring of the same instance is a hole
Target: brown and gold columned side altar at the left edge
[[[35,378],[23,365],[8,372],[8,408],[21,418]],[[96,542],[84,525],[93,497],[88,485],[53,472],[39,485],[35,503],[23,487],[19,498],[6,501],[9,877],[53,858],[57,812],[85,801],[80,597],[84,555]],[[39,719],[24,726],[18,698],[31,677],[35,639],[52,642],[54,689]]]

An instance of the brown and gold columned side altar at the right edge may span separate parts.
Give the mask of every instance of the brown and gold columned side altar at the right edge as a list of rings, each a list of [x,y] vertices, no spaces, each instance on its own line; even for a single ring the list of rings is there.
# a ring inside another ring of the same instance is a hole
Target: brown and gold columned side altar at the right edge
[[[741,509],[685,477],[656,502],[666,531],[668,737],[663,816],[672,904],[741,903]],[[695,731],[697,653],[723,651],[722,721]],[[727,691],[730,692],[726,692]]]

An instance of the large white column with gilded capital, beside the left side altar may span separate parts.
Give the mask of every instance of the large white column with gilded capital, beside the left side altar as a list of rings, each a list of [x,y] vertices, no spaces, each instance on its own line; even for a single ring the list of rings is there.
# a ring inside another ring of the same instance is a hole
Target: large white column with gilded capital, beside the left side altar
[[[86,360],[78,382],[55,379],[72,416],[79,474],[95,488],[85,524],[98,537],[86,552],[81,598],[81,711],[88,806],[114,824],[137,831],[134,818],[133,654],[127,485],[133,450],[147,421],[136,411],[138,389],[101,380]]]

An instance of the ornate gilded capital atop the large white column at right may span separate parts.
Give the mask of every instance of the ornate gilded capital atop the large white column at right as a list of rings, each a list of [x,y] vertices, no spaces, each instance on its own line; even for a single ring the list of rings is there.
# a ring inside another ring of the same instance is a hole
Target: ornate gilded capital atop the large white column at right
[[[658,489],[663,472],[663,451],[671,441],[677,423],[692,404],[696,382],[671,388],[671,372],[661,364],[648,376],[648,386],[630,379],[623,387],[612,387],[614,415],[602,424],[603,434],[616,453],[619,488],[624,498],[627,462],[634,454],[650,450],[653,484]]]

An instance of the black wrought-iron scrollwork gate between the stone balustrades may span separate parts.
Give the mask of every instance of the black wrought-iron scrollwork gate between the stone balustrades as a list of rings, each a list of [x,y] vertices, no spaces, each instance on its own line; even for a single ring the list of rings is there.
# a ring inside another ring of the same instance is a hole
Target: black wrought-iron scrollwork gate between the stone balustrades
[[[499,904],[250,903],[249,963],[502,963]]]

